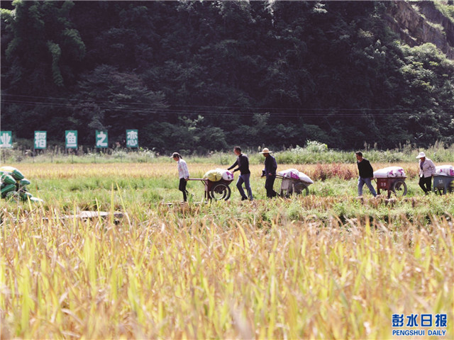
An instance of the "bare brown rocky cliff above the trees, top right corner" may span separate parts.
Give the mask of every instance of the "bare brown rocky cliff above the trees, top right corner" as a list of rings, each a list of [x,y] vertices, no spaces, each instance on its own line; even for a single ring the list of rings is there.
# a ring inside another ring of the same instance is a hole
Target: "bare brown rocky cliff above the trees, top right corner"
[[[431,42],[454,60],[454,23],[433,1],[392,1],[389,27],[410,46]]]

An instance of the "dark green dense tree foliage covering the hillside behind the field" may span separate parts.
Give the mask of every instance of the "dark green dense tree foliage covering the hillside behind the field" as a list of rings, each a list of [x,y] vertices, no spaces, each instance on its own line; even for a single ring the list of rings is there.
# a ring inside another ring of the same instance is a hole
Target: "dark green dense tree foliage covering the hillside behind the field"
[[[160,152],[454,143],[454,64],[400,45],[388,1],[13,1],[1,129]]]

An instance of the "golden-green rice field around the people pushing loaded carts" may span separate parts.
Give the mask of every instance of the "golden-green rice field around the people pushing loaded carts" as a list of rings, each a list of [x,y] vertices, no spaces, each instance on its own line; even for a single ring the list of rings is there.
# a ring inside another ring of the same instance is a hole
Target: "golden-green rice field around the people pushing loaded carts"
[[[358,199],[355,164],[287,165],[309,196],[266,200],[253,165],[253,202],[189,182],[187,205],[175,163],[8,165],[45,202],[0,201],[1,339],[399,339],[393,314],[454,337],[454,195],[422,196],[413,163],[395,200]]]

